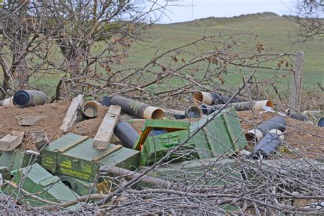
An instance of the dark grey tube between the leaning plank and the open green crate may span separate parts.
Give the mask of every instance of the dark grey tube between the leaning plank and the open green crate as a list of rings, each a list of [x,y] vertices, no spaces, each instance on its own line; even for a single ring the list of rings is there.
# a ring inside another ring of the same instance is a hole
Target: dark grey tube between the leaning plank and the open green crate
[[[118,122],[113,133],[120,139],[125,148],[133,148],[139,134],[127,122]]]

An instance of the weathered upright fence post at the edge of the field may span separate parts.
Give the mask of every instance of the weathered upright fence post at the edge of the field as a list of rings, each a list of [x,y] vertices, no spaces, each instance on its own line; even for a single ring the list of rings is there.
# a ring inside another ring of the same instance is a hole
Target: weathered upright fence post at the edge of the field
[[[301,89],[302,89],[302,72],[303,72],[303,51],[297,51],[295,57],[295,67],[293,69],[293,80],[291,82],[291,96],[289,98],[290,113],[297,113],[300,111]]]

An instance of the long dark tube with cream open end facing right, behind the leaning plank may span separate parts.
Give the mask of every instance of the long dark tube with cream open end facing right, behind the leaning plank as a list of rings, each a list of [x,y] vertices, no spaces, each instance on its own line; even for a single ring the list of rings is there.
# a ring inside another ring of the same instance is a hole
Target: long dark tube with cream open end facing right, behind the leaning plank
[[[122,112],[137,118],[162,119],[164,117],[162,109],[122,96],[113,96],[110,103],[122,107]]]

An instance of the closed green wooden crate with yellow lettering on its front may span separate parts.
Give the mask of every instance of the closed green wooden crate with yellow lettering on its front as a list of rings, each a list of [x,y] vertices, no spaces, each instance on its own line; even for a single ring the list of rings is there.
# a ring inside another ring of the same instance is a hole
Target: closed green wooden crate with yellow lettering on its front
[[[135,170],[139,152],[109,144],[106,150],[92,148],[93,139],[68,133],[44,147],[42,166],[52,173],[93,181],[100,165],[116,165]]]

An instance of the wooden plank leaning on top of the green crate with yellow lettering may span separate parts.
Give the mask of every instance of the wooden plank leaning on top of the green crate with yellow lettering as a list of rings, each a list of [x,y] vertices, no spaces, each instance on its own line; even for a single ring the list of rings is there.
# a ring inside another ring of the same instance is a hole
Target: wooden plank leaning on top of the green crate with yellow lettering
[[[120,111],[122,109],[119,106],[111,105],[103,118],[103,122],[101,122],[100,127],[94,137],[94,143],[92,144],[92,148],[98,150],[105,150],[109,145],[109,141],[113,135],[113,129],[117,122],[119,121]]]

